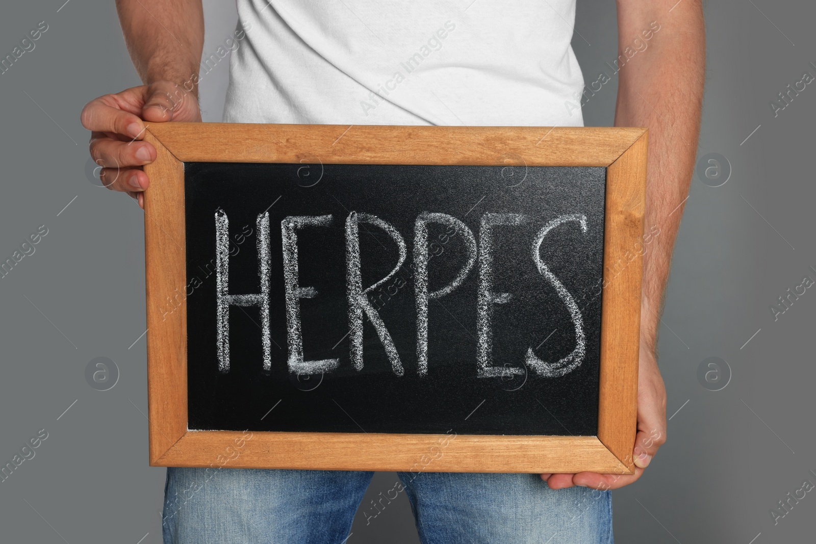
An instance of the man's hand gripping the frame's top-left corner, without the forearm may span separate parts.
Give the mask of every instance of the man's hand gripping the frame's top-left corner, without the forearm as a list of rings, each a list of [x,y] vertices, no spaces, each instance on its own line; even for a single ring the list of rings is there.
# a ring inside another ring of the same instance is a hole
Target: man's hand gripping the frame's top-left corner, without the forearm
[[[91,158],[102,166],[105,187],[126,192],[144,208],[148,176],[142,166],[156,160],[156,148],[144,138],[144,121],[202,120],[198,100],[172,82],[131,87],[100,96],[82,108],[82,126],[91,130]]]

